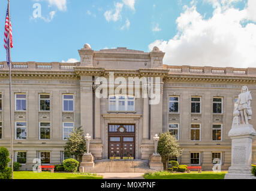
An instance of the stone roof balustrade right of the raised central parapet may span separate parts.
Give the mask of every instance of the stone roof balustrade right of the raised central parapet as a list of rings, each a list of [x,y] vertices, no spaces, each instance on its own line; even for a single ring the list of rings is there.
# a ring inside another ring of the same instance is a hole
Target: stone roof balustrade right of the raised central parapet
[[[235,68],[235,67],[192,67],[192,66],[168,66],[164,68],[169,73],[209,74],[209,75],[248,75],[256,76],[256,68]]]

